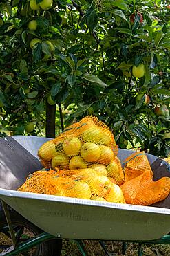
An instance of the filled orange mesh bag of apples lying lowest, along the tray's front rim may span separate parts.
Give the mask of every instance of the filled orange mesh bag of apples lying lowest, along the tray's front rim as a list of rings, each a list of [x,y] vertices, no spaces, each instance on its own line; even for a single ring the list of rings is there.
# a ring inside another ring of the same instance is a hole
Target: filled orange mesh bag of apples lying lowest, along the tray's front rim
[[[28,176],[19,191],[53,194],[80,199],[125,203],[114,180],[90,168],[80,170],[37,171]]]

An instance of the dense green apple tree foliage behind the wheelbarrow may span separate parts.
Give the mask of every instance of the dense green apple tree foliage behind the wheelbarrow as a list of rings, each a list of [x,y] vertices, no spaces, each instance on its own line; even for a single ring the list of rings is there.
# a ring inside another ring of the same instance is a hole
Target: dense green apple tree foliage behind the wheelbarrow
[[[130,21],[137,11],[142,23],[138,15]],[[49,10],[34,11],[27,0],[2,0],[0,135],[45,136],[45,111],[56,107],[56,135],[62,120],[66,127],[92,114],[109,125],[119,147],[167,156],[169,15],[168,1],[54,0]],[[36,30],[28,29],[32,19]],[[35,37],[41,44],[32,49]],[[138,79],[131,68],[140,62],[145,77]],[[144,94],[149,104],[136,98]],[[162,105],[158,116],[154,109]]]

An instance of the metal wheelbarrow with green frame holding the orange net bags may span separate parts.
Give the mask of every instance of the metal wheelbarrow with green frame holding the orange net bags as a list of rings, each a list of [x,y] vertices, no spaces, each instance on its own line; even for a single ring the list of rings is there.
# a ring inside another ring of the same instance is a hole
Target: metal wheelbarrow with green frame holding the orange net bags
[[[107,240],[122,241],[123,253],[126,242],[138,242],[140,256],[142,244],[170,244],[169,197],[155,205],[140,206],[16,191],[28,174],[42,168],[37,152],[47,140],[50,138],[36,136],[0,139],[0,199],[4,210],[0,208],[0,232],[10,232],[12,239],[12,246],[3,248],[1,256],[35,247],[36,253],[30,255],[60,255],[62,239],[76,241],[84,256],[88,255],[84,239],[98,240],[106,255],[111,255],[105,246]],[[120,162],[132,153],[118,149]],[[151,154],[147,157],[155,175],[165,170],[170,176],[166,162]],[[30,228],[33,237],[23,236],[25,228]]]

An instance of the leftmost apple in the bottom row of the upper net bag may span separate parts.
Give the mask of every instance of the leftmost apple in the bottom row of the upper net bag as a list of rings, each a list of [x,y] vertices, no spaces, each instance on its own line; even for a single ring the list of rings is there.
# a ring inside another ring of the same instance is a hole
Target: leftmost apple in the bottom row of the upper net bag
[[[58,167],[59,169],[68,169],[69,159],[64,154],[56,154],[52,158],[52,169]]]

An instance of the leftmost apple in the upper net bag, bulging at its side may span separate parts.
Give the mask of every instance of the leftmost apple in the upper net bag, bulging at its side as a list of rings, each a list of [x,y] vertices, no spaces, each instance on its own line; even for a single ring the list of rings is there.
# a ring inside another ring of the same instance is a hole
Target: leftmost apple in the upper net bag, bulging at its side
[[[48,140],[41,147],[38,151],[38,156],[43,159],[43,161],[50,161],[56,155],[56,145],[53,143],[52,140]]]

